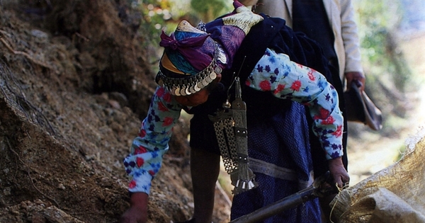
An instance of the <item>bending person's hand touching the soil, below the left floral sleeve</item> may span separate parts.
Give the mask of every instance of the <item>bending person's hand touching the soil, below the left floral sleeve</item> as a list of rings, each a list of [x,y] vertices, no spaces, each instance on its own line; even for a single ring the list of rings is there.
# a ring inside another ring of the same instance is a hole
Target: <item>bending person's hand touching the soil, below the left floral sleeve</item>
[[[133,193],[130,198],[130,208],[120,218],[120,223],[145,223],[147,221],[146,193]]]

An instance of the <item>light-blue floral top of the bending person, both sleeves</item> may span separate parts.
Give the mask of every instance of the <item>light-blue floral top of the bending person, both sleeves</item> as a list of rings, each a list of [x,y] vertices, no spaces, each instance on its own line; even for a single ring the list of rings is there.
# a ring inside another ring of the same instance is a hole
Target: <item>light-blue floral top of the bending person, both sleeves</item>
[[[319,136],[327,159],[343,155],[344,120],[338,106],[338,94],[322,74],[290,61],[288,55],[267,49],[245,84],[308,106],[314,120],[314,134]],[[177,103],[174,96],[165,88],[157,87],[147,117],[133,140],[130,154],[124,159],[130,192],[149,194],[152,179],[169,149],[168,142],[181,109],[183,105]]]

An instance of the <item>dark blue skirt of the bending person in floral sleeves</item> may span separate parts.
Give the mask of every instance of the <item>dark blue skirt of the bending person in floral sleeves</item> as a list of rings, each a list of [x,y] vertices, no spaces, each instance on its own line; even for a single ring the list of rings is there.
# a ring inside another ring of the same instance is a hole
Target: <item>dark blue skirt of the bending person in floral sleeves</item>
[[[256,161],[250,163],[266,162],[262,167],[267,167],[258,171],[258,166],[252,168],[259,187],[234,196],[231,219],[293,195],[312,182],[304,106],[291,103],[290,108],[271,117],[250,115],[247,123],[249,157]],[[264,222],[321,222],[319,201],[305,202]]]

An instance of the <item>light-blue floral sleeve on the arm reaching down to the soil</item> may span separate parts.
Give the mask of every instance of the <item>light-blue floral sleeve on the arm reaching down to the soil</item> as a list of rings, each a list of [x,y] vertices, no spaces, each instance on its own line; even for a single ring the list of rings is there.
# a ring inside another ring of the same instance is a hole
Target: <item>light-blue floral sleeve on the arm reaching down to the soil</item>
[[[169,139],[181,113],[181,106],[163,87],[152,96],[147,117],[125,157],[125,171],[130,178],[128,190],[149,194],[151,181],[162,166],[162,156],[169,149]]]

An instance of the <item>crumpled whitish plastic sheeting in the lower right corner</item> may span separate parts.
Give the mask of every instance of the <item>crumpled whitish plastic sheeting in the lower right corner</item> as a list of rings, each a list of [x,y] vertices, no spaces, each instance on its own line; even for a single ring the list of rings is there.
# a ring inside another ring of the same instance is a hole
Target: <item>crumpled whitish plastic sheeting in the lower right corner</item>
[[[341,223],[425,223],[425,129],[400,161],[342,190],[331,202]]]

